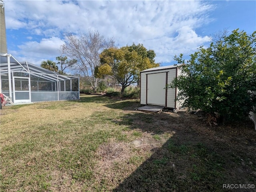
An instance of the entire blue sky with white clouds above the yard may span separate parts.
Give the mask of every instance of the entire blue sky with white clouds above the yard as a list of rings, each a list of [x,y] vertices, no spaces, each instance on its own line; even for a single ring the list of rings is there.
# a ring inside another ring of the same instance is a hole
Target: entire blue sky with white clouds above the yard
[[[18,61],[56,62],[62,32],[98,30],[118,47],[143,44],[156,62],[172,65],[208,46],[220,30],[256,30],[256,1],[41,1],[4,0],[8,53]]]

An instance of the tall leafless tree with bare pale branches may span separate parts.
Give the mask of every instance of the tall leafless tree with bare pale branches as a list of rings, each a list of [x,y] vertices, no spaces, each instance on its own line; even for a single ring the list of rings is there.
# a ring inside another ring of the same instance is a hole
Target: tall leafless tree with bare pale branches
[[[77,62],[72,64],[72,69],[77,74],[88,79],[93,91],[96,91],[100,79],[95,77],[95,68],[100,65],[100,53],[104,49],[114,46],[113,38],[104,38],[98,31],[89,30],[87,34],[78,36],[69,32],[64,33],[66,44],[60,49]]]

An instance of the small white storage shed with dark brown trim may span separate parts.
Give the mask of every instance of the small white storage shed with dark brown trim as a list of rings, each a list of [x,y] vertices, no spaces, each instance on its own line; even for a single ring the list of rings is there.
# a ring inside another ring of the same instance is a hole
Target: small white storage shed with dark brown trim
[[[180,74],[177,65],[154,67],[140,72],[140,105],[157,105],[176,109],[182,103],[175,101],[178,89],[165,89]]]

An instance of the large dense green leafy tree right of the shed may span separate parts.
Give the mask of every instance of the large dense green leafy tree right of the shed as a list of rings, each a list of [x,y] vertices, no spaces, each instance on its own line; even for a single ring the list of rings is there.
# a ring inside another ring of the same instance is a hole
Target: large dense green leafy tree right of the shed
[[[187,63],[174,57],[182,75],[168,87],[177,87],[184,106],[201,109],[211,117],[236,121],[248,117],[256,106],[256,32],[234,30],[209,48],[200,47]],[[256,113],[256,110],[254,110]]]

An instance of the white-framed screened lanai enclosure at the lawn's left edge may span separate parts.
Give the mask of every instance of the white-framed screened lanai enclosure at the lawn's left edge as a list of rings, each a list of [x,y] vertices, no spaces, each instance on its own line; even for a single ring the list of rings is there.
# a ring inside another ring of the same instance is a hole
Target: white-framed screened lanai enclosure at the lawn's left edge
[[[13,103],[79,99],[79,77],[65,76],[12,55],[0,58],[0,92]]]

